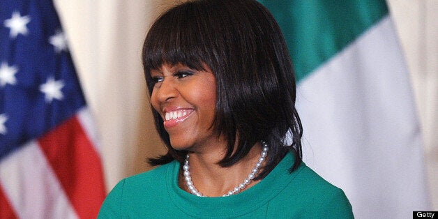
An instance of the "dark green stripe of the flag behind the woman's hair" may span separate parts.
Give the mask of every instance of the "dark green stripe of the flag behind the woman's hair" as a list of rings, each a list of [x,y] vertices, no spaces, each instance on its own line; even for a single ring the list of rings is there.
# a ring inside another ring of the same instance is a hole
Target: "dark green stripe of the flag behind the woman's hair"
[[[298,80],[388,14],[385,2],[379,0],[260,2],[282,28]]]

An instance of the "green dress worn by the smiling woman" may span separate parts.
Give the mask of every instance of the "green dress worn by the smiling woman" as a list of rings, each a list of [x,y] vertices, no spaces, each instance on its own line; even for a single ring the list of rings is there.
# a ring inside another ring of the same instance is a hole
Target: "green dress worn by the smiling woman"
[[[197,197],[178,186],[176,161],[120,181],[98,218],[354,218],[340,188],[291,154],[255,186],[229,197]]]

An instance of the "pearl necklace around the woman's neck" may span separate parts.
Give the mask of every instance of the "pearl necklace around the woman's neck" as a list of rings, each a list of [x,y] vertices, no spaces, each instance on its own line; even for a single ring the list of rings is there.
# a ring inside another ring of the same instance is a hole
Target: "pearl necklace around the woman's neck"
[[[229,196],[229,195],[235,195],[235,194],[241,192],[241,190],[246,188],[246,186],[248,186],[251,183],[252,179],[255,178],[255,176],[256,176],[255,174],[257,174],[257,172],[259,172],[259,168],[262,167],[262,163],[264,162],[264,160],[266,160],[266,155],[268,155],[268,145],[266,144],[266,142],[263,142],[263,141],[261,143],[263,146],[262,153],[260,153],[259,160],[255,164],[254,169],[252,169],[250,174],[248,174],[248,177],[242,183],[240,183],[239,186],[236,186],[232,190],[229,190],[229,192],[222,195],[222,197]],[[192,193],[193,195],[197,195],[199,197],[205,197],[204,195],[202,195],[201,192],[199,192],[195,188],[195,185],[192,182],[192,178],[190,177],[190,166],[188,165],[188,154],[186,156],[186,160],[184,161],[183,171],[184,171],[183,172],[184,181],[186,181],[186,186],[188,187],[188,190],[190,190],[190,193]]]

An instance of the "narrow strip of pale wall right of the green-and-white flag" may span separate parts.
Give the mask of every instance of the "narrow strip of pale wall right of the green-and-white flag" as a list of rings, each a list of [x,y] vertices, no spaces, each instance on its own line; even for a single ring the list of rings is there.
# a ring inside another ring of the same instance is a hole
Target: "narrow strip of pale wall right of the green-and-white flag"
[[[432,208],[438,209],[438,1],[388,0],[423,128]]]

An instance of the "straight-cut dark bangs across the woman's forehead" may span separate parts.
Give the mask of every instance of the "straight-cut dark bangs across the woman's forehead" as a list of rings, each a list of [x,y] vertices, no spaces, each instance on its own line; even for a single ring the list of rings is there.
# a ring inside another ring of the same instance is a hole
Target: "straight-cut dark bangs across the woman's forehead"
[[[211,51],[213,45],[209,43],[209,34],[201,32],[207,28],[197,16],[199,14],[189,4],[174,8],[158,18],[144,41],[145,73],[160,68],[164,63],[181,63],[195,70],[205,70],[202,63],[209,65],[214,51]]]

